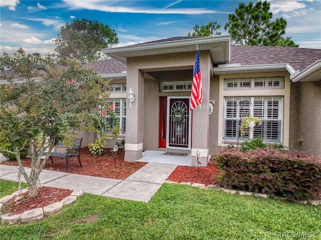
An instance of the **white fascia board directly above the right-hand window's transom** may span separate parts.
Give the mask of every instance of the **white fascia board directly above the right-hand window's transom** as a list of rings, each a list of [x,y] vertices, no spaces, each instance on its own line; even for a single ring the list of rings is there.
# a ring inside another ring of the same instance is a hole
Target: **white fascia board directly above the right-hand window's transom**
[[[289,63],[275,63],[275,64],[259,64],[259,65],[241,65],[238,63],[234,64],[221,64],[217,67],[213,67],[214,75],[218,74],[229,74],[232,72],[258,72],[258,71],[269,71],[277,69],[286,69],[290,74],[295,72],[293,67]]]

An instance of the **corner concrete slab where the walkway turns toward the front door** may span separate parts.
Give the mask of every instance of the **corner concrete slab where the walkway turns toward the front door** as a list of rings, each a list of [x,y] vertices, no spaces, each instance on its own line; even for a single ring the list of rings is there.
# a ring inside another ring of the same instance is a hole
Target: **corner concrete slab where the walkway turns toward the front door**
[[[102,196],[148,202],[161,186],[158,183],[123,180]]]

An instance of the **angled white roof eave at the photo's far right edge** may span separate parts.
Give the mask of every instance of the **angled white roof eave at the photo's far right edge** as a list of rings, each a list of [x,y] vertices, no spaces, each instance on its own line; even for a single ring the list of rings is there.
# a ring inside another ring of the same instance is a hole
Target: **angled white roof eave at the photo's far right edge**
[[[321,59],[313,62],[301,72],[297,71],[292,73],[290,79],[293,82],[321,80]]]

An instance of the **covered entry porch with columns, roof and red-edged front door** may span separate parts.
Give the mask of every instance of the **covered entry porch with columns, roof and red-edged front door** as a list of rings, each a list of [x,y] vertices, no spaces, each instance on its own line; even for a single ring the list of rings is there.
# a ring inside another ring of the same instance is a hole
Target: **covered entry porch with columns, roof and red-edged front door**
[[[200,47],[203,103],[201,108],[190,111],[191,89],[163,89],[162,84],[189,85],[193,80],[196,44]],[[128,99],[126,102],[125,161],[146,159],[149,154],[156,153],[150,150],[162,152],[157,154],[157,159],[166,151],[187,151],[191,163],[186,164],[195,166],[199,149],[199,161],[207,165],[213,57],[217,63],[229,60],[229,37],[169,39],[110,48],[104,52],[127,63],[127,91],[131,89],[134,94],[131,105]]]

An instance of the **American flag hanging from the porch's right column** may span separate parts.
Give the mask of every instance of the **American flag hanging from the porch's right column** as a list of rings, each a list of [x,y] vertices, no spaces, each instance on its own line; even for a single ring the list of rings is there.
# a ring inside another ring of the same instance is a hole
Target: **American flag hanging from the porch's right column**
[[[191,104],[190,110],[193,110],[203,101],[203,88],[202,88],[202,75],[200,70],[200,56],[199,51],[196,53],[193,85],[191,91]]]

